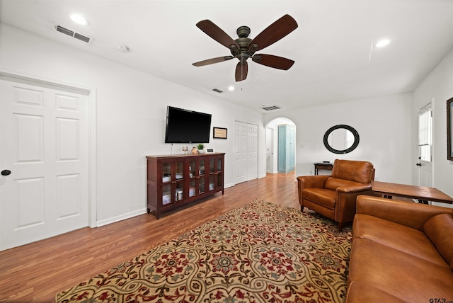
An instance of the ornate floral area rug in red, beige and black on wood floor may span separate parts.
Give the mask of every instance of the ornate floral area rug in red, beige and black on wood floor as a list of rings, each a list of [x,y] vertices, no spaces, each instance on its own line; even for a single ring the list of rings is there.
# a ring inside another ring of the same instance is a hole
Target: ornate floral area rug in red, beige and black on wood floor
[[[254,200],[56,302],[345,302],[350,227]]]

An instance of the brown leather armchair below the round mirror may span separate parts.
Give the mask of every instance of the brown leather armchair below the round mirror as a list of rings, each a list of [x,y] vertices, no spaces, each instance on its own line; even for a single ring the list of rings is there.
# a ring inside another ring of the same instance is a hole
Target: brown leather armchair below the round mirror
[[[372,195],[374,166],[368,161],[338,160],[333,162],[331,176],[299,176],[300,210],[304,207],[338,222],[352,222],[357,195]]]

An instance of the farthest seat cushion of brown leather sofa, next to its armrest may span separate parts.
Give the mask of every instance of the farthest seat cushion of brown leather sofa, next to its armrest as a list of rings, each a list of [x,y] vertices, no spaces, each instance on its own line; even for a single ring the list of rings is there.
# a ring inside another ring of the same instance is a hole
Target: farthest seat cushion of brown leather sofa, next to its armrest
[[[449,263],[440,256],[423,231],[364,214],[355,215],[352,229],[353,239],[369,239],[417,258],[449,267]]]

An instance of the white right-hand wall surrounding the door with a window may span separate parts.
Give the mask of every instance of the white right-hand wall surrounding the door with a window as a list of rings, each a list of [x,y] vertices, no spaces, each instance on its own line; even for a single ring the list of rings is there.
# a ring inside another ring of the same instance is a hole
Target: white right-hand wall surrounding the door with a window
[[[453,97],[453,50],[413,92],[413,128],[418,128],[418,110],[433,103],[432,186],[453,197],[453,161],[447,160],[447,100]],[[413,142],[418,142],[414,132]],[[418,149],[413,144],[412,163],[418,162]],[[418,182],[418,170],[413,169],[412,182]],[[445,206],[442,205],[442,206]],[[451,205],[450,205],[451,206]]]

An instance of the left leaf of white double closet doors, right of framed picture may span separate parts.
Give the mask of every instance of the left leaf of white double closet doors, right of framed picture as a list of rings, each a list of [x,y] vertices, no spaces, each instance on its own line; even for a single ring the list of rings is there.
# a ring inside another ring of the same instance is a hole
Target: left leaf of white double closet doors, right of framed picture
[[[247,181],[247,125],[234,122],[234,183]]]

